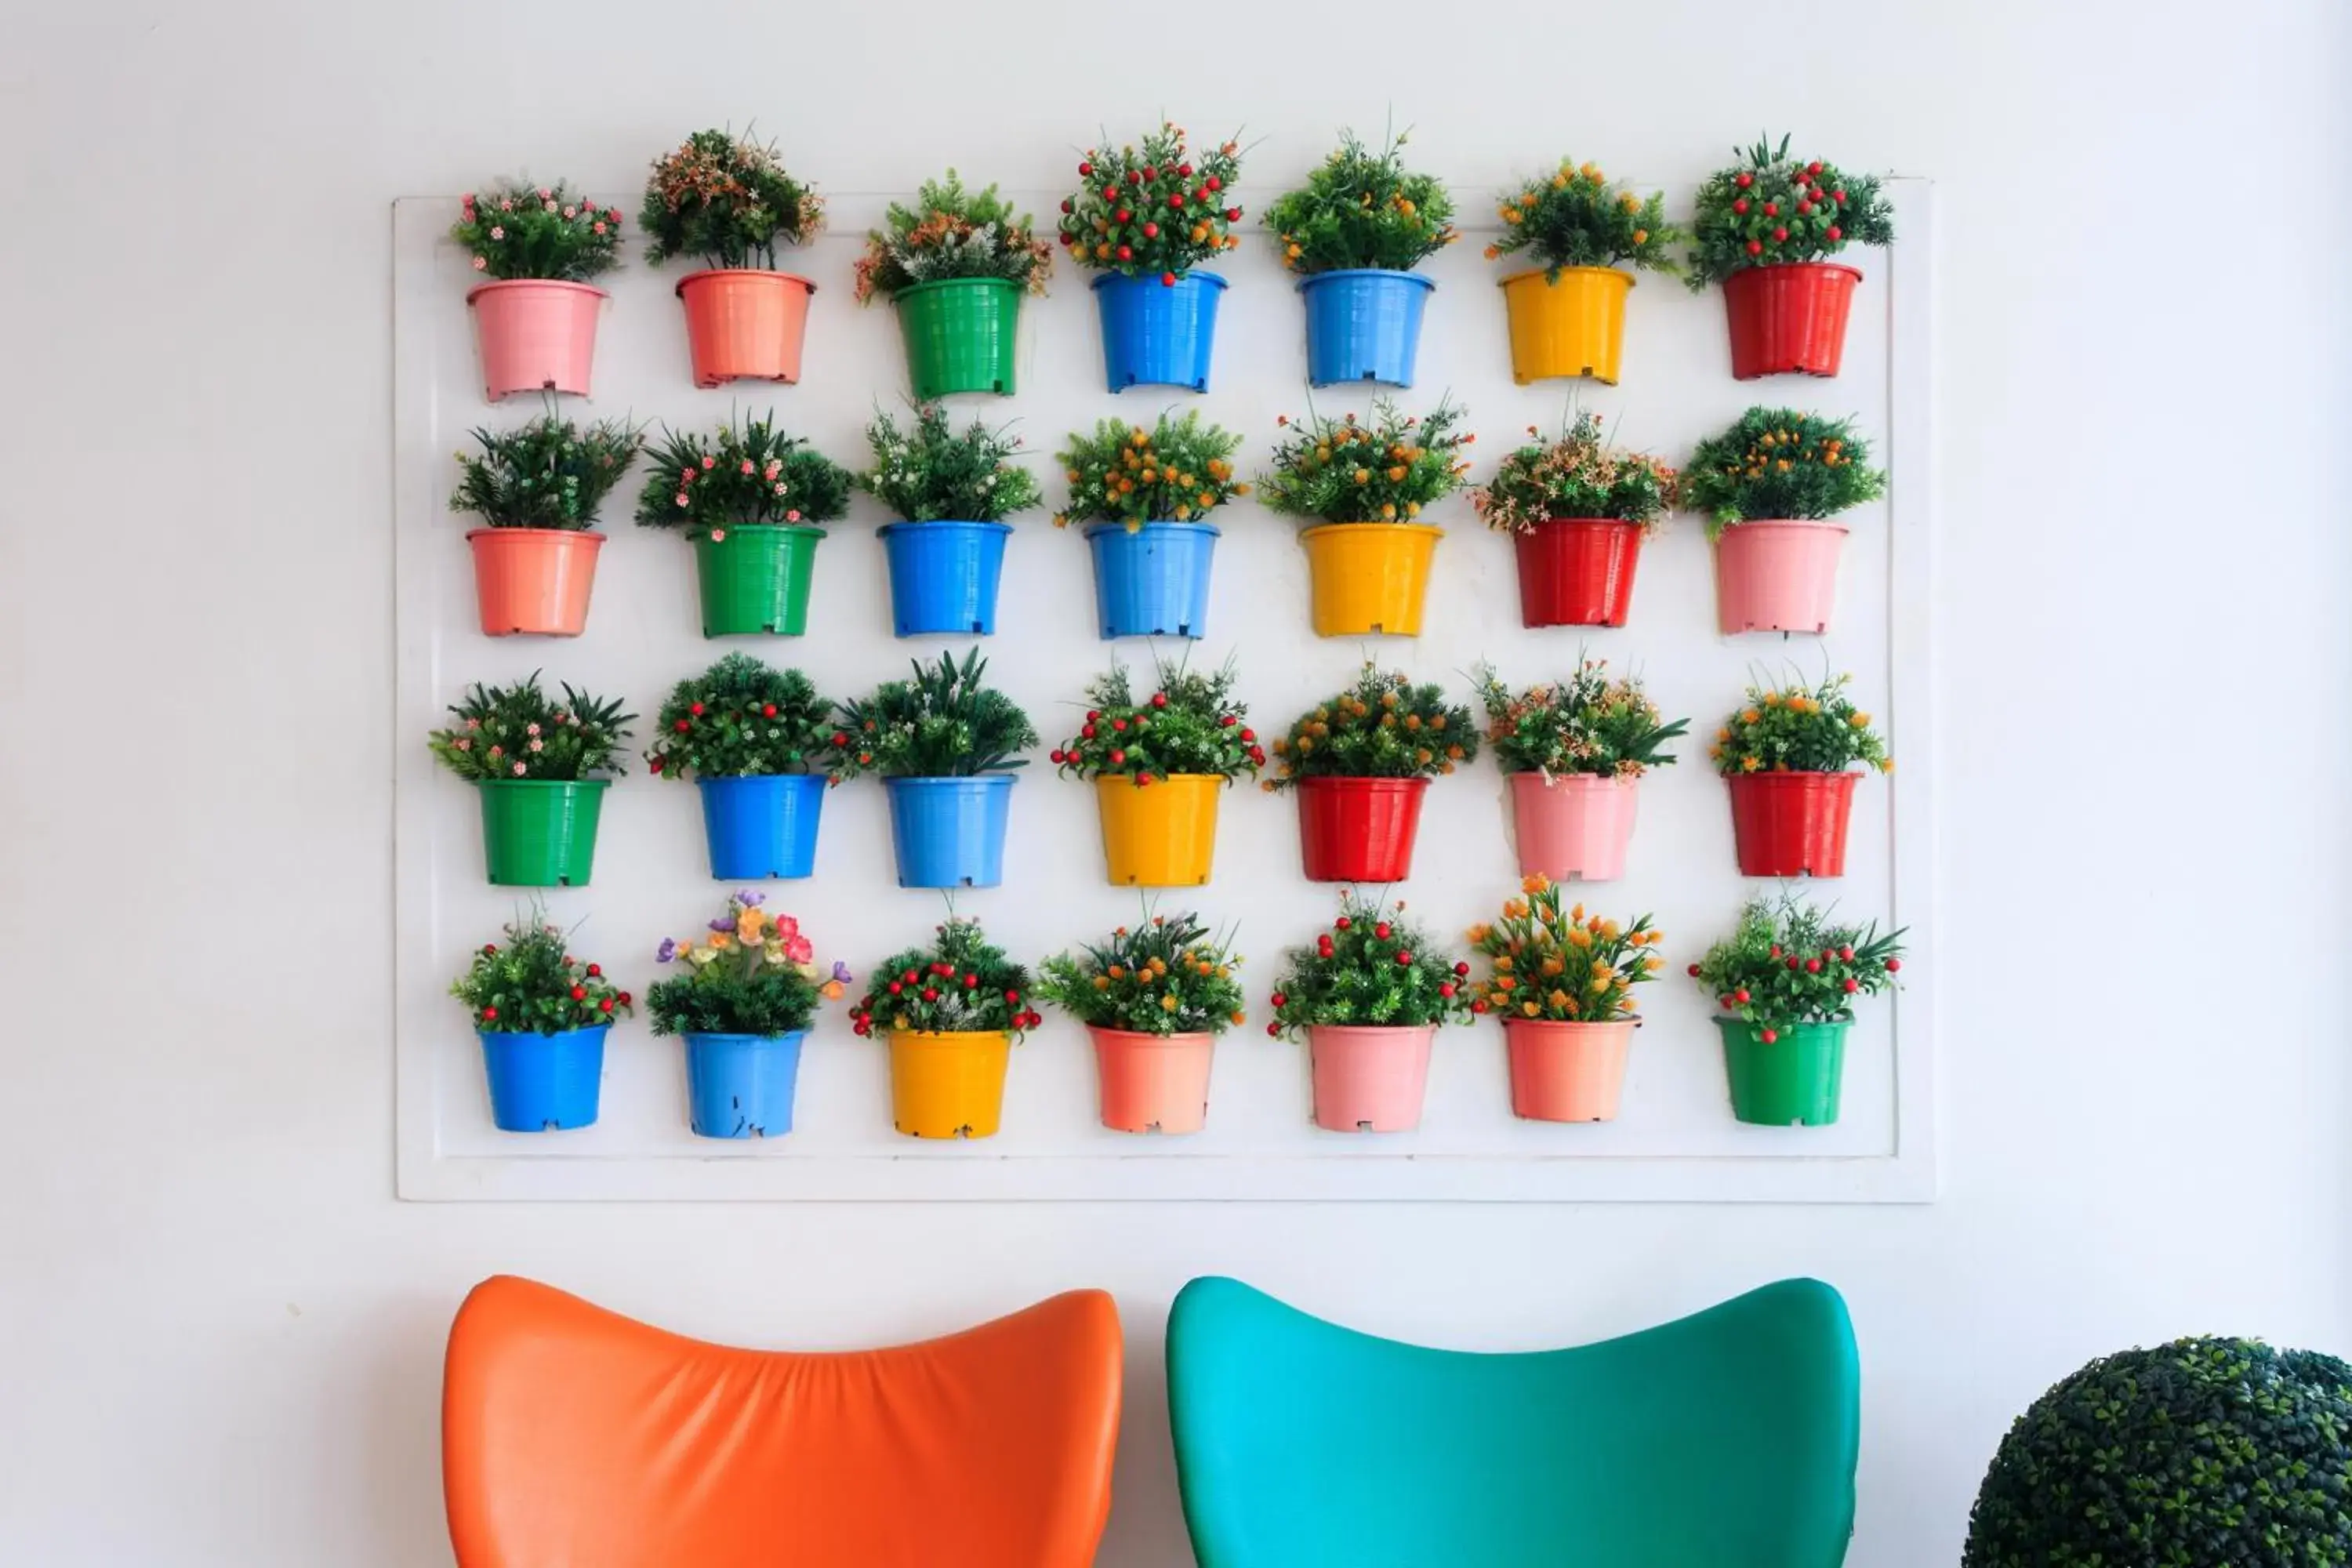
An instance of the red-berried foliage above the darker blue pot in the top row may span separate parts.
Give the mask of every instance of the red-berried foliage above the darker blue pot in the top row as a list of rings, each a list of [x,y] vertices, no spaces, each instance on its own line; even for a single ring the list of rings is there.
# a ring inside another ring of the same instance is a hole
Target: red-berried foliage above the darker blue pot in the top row
[[[1061,242],[1080,266],[1176,287],[1240,244],[1240,153],[1242,143],[1228,141],[1195,158],[1176,125],[1162,125],[1141,148],[1087,148],[1077,162],[1084,186],[1061,205]]]

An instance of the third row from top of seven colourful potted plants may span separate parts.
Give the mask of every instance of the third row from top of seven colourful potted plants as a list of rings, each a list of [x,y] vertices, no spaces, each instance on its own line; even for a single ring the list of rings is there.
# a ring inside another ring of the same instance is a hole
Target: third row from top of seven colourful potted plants
[[[889,792],[898,886],[997,886],[1030,717],[985,684],[978,651],[915,663],[910,679],[835,703],[800,670],[729,654],[680,682],[656,717],[647,764],[701,792],[710,875],[811,877],[826,785],[861,773]],[[1084,691],[1077,733],[1054,766],[1094,785],[1103,865],[1117,886],[1200,886],[1216,853],[1218,797],[1237,778],[1298,797],[1310,882],[1404,882],[1430,780],[1491,745],[1510,780],[1519,870],[1604,882],[1625,872],[1649,769],[1689,719],[1668,722],[1637,677],[1585,661],[1566,679],[1512,691],[1475,672],[1486,712],[1402,672],[1364,665],[1270,745],[1235,696],[1235,672],[1162,663],[1150,691],[1115,668]],[[433,752],[475,785],[489,882],[586,886],[602,795],[623,769],[628,724],[609,698],[539,677],[473,686]],[[1708,748],[1731,795],[1740,872],[1842,877],[1860,769],[1893,766],[1846,677],[1750,686]]]

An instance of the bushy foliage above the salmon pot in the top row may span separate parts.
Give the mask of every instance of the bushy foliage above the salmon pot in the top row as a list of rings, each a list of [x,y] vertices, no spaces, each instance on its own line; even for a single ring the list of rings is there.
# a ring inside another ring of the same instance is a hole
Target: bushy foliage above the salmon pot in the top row
[[[776,148],[727,132],[694,132],[654,160],[637,212],[644,259],[701,256],[715,268],[774,268],[776,242],[807,244],[826,226],[811,186],[783,172]]]

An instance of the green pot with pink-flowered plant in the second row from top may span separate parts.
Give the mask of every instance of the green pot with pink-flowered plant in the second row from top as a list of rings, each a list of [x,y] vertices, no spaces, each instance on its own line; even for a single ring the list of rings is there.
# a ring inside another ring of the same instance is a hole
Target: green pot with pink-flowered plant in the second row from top
[[[694,541],[703,637],[809,630],[821,524],[849,510],[849,470],[776,428],[776,416],[715,437],[663,430],[649,451],[637,522]]]

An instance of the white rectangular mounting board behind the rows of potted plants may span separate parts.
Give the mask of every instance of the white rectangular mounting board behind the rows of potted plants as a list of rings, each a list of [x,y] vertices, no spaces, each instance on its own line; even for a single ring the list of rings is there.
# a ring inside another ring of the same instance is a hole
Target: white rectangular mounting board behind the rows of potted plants
[[[1265,193],[1244,193],[1251,207]],[[649,717],[677,679],[731,649],[804,668],[830,696],[856,696],[906,672],[910,656],[962,649],[969,639],[898,642],[889,635],[887,578],[861,496],[818,548],[807,637],[706,642],[694,614],[689,548],[630,522],[635,484],[604,508],[609,543],[597,567],[595,609],[579,639],[489,639],[473,618],[466,517],[447,510],[452,451],[475,425],[510,428],[539,402],[482,402],[473,322],[463,306],[475,280],[445,240],[456,197],[407,197],[393,207],[395,331],[395,531],[397,531],[397,771],[395,771],[395,1041],[397,1150],[405,1199],[1383,1199],[1383,1201],[1929,1201],[1936,1194],[1936,1072],[1931,872],[1933,872],[1933,207],[1926,181],[1889,181],[1900,240],[1860,254],[1844,374],[1835,381],[1738,383],[1729,374],[1719,292],[1691,294],[1644,275],[1632,292],[1625,383],[1512,386],[1503,301],[1508,266],[1479,256],[1491,193],[1458,190],[1470,233],[1425,263],[1437,280],[1421,343],[1411,409],[1442,393],[1468,404],[1479,433],[1477,477],[1529,423],[1557,428],[1573,397],[1599,409],[1628,444],[1679,463],[1691,444],[1745,407],[1788,404],[1853,414],[1891,473],[1889,501],[1849,517],[1853,534],[1828,637],[1724,639],[1712,621],[1708,543],[1696,520],[1644,550],[1632,623],[1623,630],[1522,630],[1510,541],[1482,529],[1465,501],[1432,510],[1449,527],[1418,639],[1322,642],[1308,630],[1305,559],[1296,529],[1235,503],[1218,512],[1209,637],[1197,661],[1237,656],[1251,722],[1268,736],[1345,684],[1367,656],[1442,679],[1468,696],[1465,670],[1491,658],[1529,684],[1573,668],[1578,649],[1637,668],[1668,717],[1691,717],[1684,762],[1642,785],[1642,823],[1628,877],[1581,889],[1595,907],[1656,912],[1668,971],[1642,992],[1646,1027],[1635,1044],[1616,1124],[1550,1126],[1510,1117],[1501,1030],[1439,1034],[1423,1126],[1402,1135],[1322,1133],[1308,1119],[1305,1048],[1263,1032],[1263,994],[1282,950],[1310,940],[1334,912],[1336,889],[1298,875],[1289,797],[1247,783],[1225,795],[1216,877],[1204,889],[1162,893],[1162,910],[1197,907],[1237,922],[1249,954],[1251,1020],[1218,1044],[1209,1128],[1190,1138],[1112,1133],[1094,1117],[1094,1060],[1084,1032],[1051,1018],[1014,1053],[1004,1131],[981,1143],[917,1143],[889,1126],[880,1044],[849,1032],[844,1009],[823,1013],[802,1056],[797,1131],[776,1140],[694,1138],[684,1114],[684,1067],[675,1039],[656,1039],[642,1013],[614,1030],[602,1119],[572,1133],[499,1133],[489,1121],[480,1048],[466,1011],[447,997],[470,947],[494,940],[529,893],[482,879],[473,790],[440,771],[423,736],[475,679],[508,682],[532,670],[600,696],[623,696]],[[1051,214],[1061,193],[1016,193]],[[635,212],[633,197],[609,197]],[[687,376],[682,313],[670,294],[684,266],[647,268],[630,223],[630,263],[600,280],[612,292],[595,364],[595,397],[567,400],[572,416],[628,414],[689,428],[734,411],[774,409],[795,435],[835,461],[861,465],[863,423],[898,407],[906,357],[882,303],[861,310],[849,268],[887,195],[830,197],[833,226],[783,261],[816,280],[804,381],[696,390]],[[1670,193],[1675,207],[1689,190]],[[960,416],[1018,421],[1037,451],[1049,498],[1061,480],[1051,451],[1063,435],[1105,414],[1152,418],[1162,407],[1202,407],[1247,437],[1256,473],[1277,435],[1277,414],[1308,409],[1305,350],[1291,280],[1251,226],[1218,266],[1223,301],[1216,367],[1202,397],[1162,388],[1110,395],[1084,277],[1065,259],[1049,299],[1021,320],[1018,395],[960,397]],[[1364,409],[1369,393],[1315,393],[1322,411]],[[1148,668],[1148,644],[1103,644],[1091,625],[1087,548],[1042,512],[1014,520],[1004,607],[985,639],[990,679],[1018,698],[1047,748],[1075,731],[1080,686],[1112,658]],[[1181,654],[1181,644],[1162,644]],[[1743,684],[1764,672],[1818,677],[1851,670],[1856,691],[1900,762],[1891,780],[1858,790],[1849,875],[1806,886],[1856,917],[1910,929],[1903,992],[1863,1011],[1846,1053],[1844,1114],[1830,1128],[1755,1128],[1731,1119],[1722,1053],[1708,1004],[1684,964],[1729,931],[1752,884],[1736,875],[1724,785],[1708,769],[1705,736]],[[1044,748],[1014,795],[1007,884],[967,891],[962,912],[1021,959],[1035,961],[1138,914],[1134,891],[1103,879],[1091,788],[1056,778]],[[1458,940],[1515,891],[1501,776],[1479,759],[1432,785],[1416,875],[1397,889],[1411,912]],[[882,790],[842,785],[826,804],[818,875],[764,884],[769,907],[795,912],[818,959],[844,959],[861,978],[941,919],[938,893],[901,891],[891,877]],[[663,936],[717,914],[727,886],[708,877],[696,792],[656,780],[642,762],[614,785],[595,858],[595,882],[548,896],[555,919],[579,924],[574,947],[640,994],[654,978]]]

